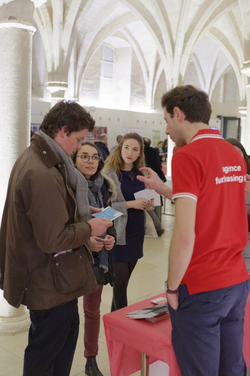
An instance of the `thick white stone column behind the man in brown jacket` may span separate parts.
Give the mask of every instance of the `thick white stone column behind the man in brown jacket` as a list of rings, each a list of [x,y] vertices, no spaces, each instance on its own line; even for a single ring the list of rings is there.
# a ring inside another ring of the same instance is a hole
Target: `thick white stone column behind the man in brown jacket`
[[[0,219],[12,167],[30,143],[34,9],[31,0],[0,0]],[[29,323],[27,308],[10,306],[0,291],[0,334],[27,331]]]

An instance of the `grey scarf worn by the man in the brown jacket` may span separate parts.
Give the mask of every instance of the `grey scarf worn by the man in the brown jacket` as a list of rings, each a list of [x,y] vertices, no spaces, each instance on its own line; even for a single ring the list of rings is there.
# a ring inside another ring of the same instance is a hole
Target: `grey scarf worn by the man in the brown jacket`
[[[65,151],[50,136],[40,130],[39,135],[45,139],[48,146],[55,155],[65,164],[67,170],[67,180],[75,192],[78,214],[81,222],[86,222],[91,218],[89,201],[87,199],[88,185],[84,176],[74,167],[72,159],[66,155]]]

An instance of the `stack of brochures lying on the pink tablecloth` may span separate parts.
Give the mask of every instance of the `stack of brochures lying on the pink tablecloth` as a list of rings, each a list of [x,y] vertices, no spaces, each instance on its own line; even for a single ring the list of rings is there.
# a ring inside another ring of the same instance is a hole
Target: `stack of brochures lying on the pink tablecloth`
[[[138,309],[138,311],[129,312],[126,314],[129,318],[145,318],[145,320],[155,323],[166,318],[168,307],[166,304],[157,304],[154,306]]]

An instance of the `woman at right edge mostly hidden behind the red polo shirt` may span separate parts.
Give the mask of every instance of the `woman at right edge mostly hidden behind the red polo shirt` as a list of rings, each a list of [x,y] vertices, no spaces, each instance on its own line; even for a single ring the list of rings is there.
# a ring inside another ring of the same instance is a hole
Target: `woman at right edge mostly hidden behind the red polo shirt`
[[[227,138],[226,139],[229,144],[233,145],[236,150],[241,154],[241,156],[245,159],[247,164],[247,174],[250,174],[250,160],[248,158],[247,152],[245,151],[243,145],[236,140],[235,138]],[[247,267],[247,271],[250,274],[250,196],[245,196],[246,203],[247,203],[247,218],[248,218],[248,241],[247,246],[245,247],[242,256],[245,259],[245,264]]]

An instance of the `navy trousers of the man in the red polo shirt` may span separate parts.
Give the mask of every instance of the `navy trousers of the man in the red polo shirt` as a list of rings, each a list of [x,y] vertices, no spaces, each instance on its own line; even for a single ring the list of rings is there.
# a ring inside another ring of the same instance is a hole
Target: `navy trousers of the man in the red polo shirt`
[[[179,307],[169,306],[172,343],[182,376],[246,376],[243,358],[247,280],[190,295],[179,287]]]

